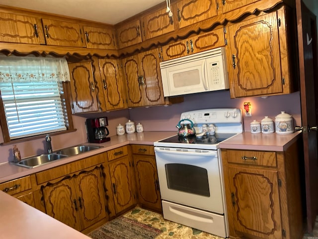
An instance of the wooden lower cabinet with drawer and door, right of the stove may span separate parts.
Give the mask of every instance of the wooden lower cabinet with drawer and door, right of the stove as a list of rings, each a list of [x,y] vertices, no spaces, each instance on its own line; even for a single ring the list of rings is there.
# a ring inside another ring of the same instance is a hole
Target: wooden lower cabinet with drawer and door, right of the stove
[[[302,238],[297,143],[284,152],[222,149],[230,237]]]

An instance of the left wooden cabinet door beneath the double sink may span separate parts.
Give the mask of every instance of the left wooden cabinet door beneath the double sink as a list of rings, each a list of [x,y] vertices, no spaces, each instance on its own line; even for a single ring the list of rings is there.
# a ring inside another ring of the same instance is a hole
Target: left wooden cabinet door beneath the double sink
[[[42,188],[46,213],[60,222],[80,231],[79,205],[73,180],[68,178]]]

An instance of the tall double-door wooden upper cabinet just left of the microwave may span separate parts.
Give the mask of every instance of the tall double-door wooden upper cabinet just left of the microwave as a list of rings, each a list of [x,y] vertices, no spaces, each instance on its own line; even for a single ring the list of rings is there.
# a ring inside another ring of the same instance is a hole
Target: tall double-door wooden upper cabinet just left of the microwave
[[[123,59],[123,70],[128,107],[164,104],[157,50]]]

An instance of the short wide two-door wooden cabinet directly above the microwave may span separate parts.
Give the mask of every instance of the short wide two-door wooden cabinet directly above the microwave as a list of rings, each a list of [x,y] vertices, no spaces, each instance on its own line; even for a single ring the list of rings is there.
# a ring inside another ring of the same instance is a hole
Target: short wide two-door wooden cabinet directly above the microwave
[[[171,60],[221,46],[225,46],[224,29],[218,28],[207,33],[162,46],[159,48],[160,60]]]

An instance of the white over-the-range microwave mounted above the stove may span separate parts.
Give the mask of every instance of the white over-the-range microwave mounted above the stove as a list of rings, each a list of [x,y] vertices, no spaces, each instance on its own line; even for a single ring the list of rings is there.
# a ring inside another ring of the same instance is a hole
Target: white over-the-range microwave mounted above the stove
[[[229,89],[225,47],[160,62],[163,95]]]

